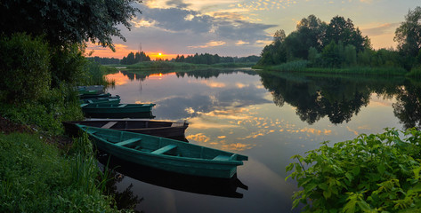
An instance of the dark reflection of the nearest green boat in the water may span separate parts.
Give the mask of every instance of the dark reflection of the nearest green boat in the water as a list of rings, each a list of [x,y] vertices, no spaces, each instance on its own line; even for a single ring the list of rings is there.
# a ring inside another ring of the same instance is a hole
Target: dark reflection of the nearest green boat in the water
[[[243,194],[238,193],[237,189],[248,189],[247,185],[241,183],[237,174],[231,178],[197,177],[158,170],[133,162],[126,162],[104,153],[98,154],[98,159],[103,164],[109,161],[109,168],[114,168],[114,170],[124,176],[132,177],[151,185],[158,185],[183,192],[242,198]]]

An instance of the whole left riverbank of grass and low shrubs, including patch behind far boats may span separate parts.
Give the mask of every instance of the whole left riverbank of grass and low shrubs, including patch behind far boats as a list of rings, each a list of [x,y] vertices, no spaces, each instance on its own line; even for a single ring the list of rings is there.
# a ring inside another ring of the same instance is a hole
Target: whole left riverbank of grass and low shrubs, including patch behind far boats
[[[108,84],[106,68],[87,66],[85,83]],[[0,102],[0,212],[121,212],[105,188],[87,138],[69,138],[63,121],[82,120],[72,84],[37,100]],[[7,99],[6,99],[7,100]]]

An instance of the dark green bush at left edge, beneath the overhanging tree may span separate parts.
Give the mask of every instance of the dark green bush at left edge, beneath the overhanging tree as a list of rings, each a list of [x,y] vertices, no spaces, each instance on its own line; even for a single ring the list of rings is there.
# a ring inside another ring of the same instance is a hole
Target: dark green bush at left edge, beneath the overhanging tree
[[[1,102],[34,102],[50,87],[50,53],[41,37],[14,34],[0,39]]]

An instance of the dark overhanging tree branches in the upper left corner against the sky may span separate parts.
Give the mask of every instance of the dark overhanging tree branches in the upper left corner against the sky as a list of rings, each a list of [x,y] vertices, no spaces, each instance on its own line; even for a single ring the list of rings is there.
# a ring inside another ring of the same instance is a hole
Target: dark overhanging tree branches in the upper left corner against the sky
[[[114,51],[112,36],[125,37],[117,25],[131,28],[139,0],[4,0],[0,32],[43,36],[54,46],[91,41]]]

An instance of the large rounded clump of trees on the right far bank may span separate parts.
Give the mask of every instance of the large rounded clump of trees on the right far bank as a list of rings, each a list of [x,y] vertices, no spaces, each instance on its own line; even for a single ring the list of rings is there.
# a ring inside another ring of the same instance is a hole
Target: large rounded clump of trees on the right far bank
[[[271,66],[309,59],[313,67],[354,66],[357,52],[367,48],[368,43],[368,37],[354,28],[352,20],[336,16],[327,24],[310,15],[288,36],[278,30],[273,42],[263,48],[262,59],[257,64]]]

